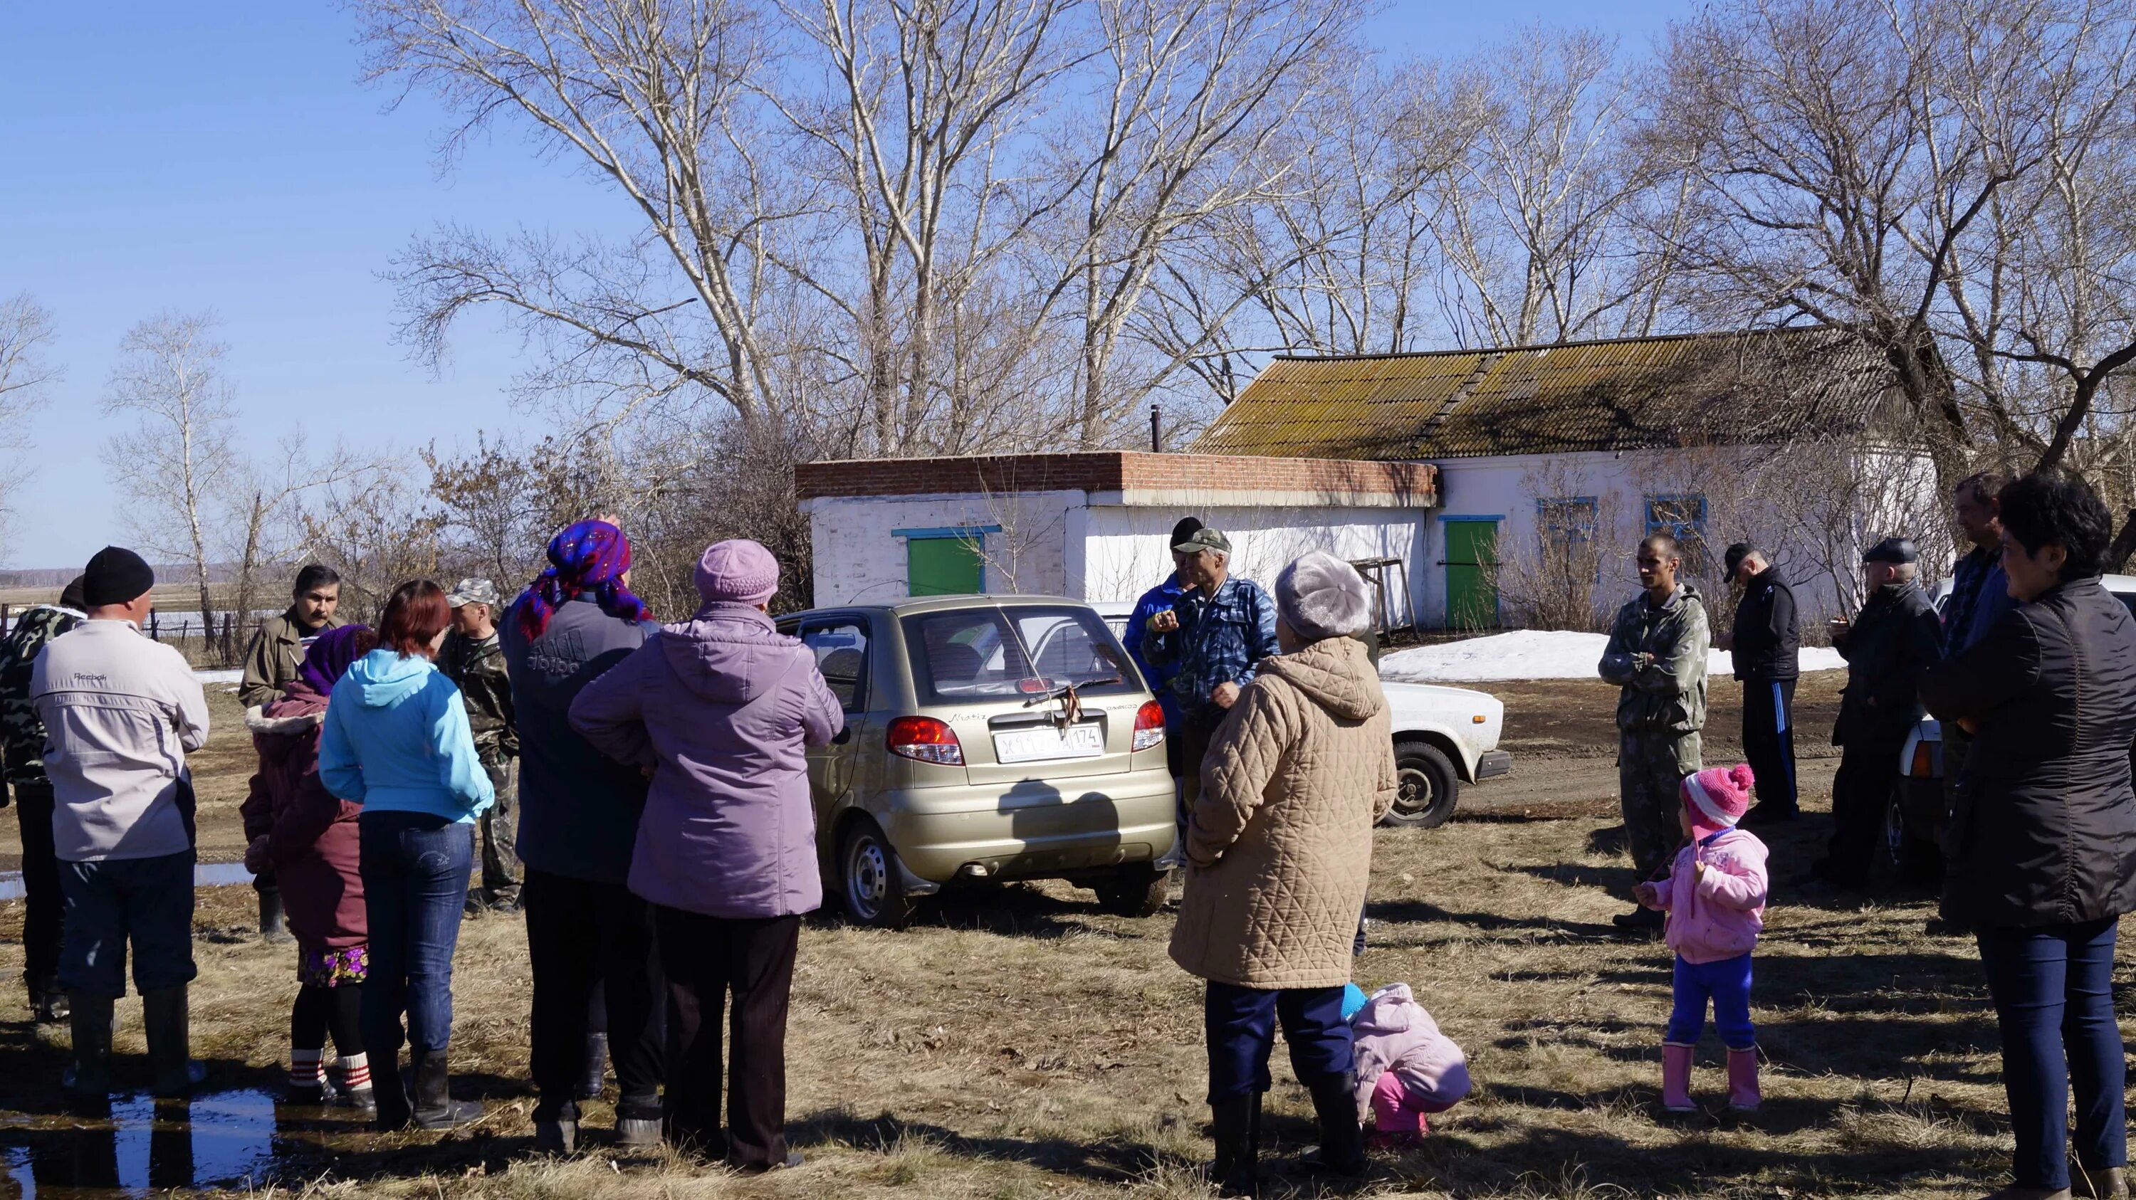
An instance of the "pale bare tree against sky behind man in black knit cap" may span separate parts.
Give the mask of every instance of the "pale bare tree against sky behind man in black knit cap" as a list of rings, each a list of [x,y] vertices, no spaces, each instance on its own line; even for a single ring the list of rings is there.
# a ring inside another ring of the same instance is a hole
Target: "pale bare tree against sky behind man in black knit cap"
[[[222,378],[229,346],[211,337],[214,327],[211,314],[175,312],[135,325],[105,384],[105,414],[135,419],[132,431],[107,442],[105,468],[132,500],[143,544],[192,566],[203,623],[216,613],[205,521],[237,465]]]

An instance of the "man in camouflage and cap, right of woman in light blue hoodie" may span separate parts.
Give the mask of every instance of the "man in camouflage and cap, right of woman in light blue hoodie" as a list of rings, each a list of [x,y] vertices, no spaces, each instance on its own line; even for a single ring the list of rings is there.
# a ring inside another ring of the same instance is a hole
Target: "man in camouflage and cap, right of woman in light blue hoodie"
[[[513,848],[519,839],[519,722],[513,717],[513,681],[498,643],[498,585],[461,579],[444,602],[453,606],[453,630],[438,649],[438,670],[459,685],[474,749],[498,792],[498,803],[481,818],[483,882],[468,893],[468,910],[511,912],[519,907],[521,875]]]

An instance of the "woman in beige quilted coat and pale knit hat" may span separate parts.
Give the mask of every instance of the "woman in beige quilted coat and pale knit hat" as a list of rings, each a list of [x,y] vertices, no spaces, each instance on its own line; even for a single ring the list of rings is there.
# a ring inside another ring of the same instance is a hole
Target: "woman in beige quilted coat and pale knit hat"
[[[1365,581],[1309,553],[1277,577],[1275,606],[1284,653],[1260,664],[1203,760],[1173,929],[1173,961],[1209,980],[1211,1174],[1230,1196],[1256,1189],[1277,1021],[1320,1117],[1318,1166],[1365,1168],[1341,991],[1371,826],[1395,801],[1386,696],[1354,636],[1371,623]]]

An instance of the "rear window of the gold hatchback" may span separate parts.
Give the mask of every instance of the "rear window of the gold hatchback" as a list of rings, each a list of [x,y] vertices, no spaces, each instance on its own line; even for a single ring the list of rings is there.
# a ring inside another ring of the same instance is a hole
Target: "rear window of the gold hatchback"
[[[1128,653],[1089,609],[1015,604],[904,619],[912,681],[929,702],[1015,700],[1074,683],[1091,696],[1141,688]]]

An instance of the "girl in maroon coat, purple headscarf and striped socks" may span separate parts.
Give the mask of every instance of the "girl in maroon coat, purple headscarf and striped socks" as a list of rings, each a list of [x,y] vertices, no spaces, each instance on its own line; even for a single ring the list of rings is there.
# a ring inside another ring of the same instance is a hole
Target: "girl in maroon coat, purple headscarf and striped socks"
[[[320,634],[280,700],[246,711],[261,767],[244,803],[246,867],[276,871],[288,929],[297,935],[297,1004],[288,1021],[288,1100],[372,1108],[372,1068],[359,1023],[370,963],[357,816],[318,781],[318,730],[327,696],[348,664],[378,645],[365,626]],[[327,1031],[333,1048],[327,1055]],[[329,1072],[331,1065],[331,1072]]]

